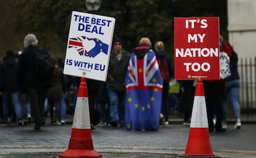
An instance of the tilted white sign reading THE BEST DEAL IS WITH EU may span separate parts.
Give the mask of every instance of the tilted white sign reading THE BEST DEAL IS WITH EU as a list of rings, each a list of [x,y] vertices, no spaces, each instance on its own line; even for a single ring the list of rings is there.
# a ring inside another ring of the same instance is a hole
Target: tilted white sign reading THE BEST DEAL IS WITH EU
[[[106,81],[115,21],[72,12],[64,74]]]

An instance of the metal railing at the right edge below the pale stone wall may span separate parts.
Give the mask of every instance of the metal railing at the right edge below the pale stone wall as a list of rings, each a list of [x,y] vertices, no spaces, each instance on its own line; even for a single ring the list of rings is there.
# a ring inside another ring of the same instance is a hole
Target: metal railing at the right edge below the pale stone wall
[[[241,109],[256,110],[256,57],[255,59],[252,57],[241,58],[238,63],[238,71],[241,78]]]

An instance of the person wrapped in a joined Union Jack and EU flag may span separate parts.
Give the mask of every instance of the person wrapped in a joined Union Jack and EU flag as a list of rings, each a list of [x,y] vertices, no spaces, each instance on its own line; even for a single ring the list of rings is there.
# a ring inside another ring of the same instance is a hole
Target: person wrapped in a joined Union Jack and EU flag
[[[149,38],[132,52],[126,75],[127,130],[158,130],[163,78]]]

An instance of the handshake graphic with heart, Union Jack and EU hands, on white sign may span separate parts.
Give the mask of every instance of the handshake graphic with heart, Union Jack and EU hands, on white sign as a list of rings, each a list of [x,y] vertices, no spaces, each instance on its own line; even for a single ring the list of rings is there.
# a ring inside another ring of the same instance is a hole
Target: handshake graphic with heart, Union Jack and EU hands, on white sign
[[[87,52],[83,46],[83,41],[94,41],[95,46]],[[103,43],[100,39],[79,36],[77,38],[69,38],[69,48],[75,48],[80,56],[95,57],[101,52],[108,54],[108,44]]]

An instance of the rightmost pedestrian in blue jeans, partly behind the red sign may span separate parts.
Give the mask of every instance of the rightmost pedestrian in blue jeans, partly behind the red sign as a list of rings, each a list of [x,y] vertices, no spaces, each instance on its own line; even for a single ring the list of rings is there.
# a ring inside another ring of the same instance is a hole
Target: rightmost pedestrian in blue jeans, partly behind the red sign
[[[234,114],[236,117],[236,124],[234,128],[240,129],[241,124],[241,107],[239,104],[239,92],[240,92],[240,77],[237,71],[238,56],[234,51],[233,47],[226,41],[221,41],[223,43],[223,51],[231,50],[231,56],[229,57],[231,76],[225,78],[225,89],[224,89],[224,100],[223,100],[223,128],[227,128],[226,118],[228,110],[228,96],[230,97],[231,104],[233,105]]]

